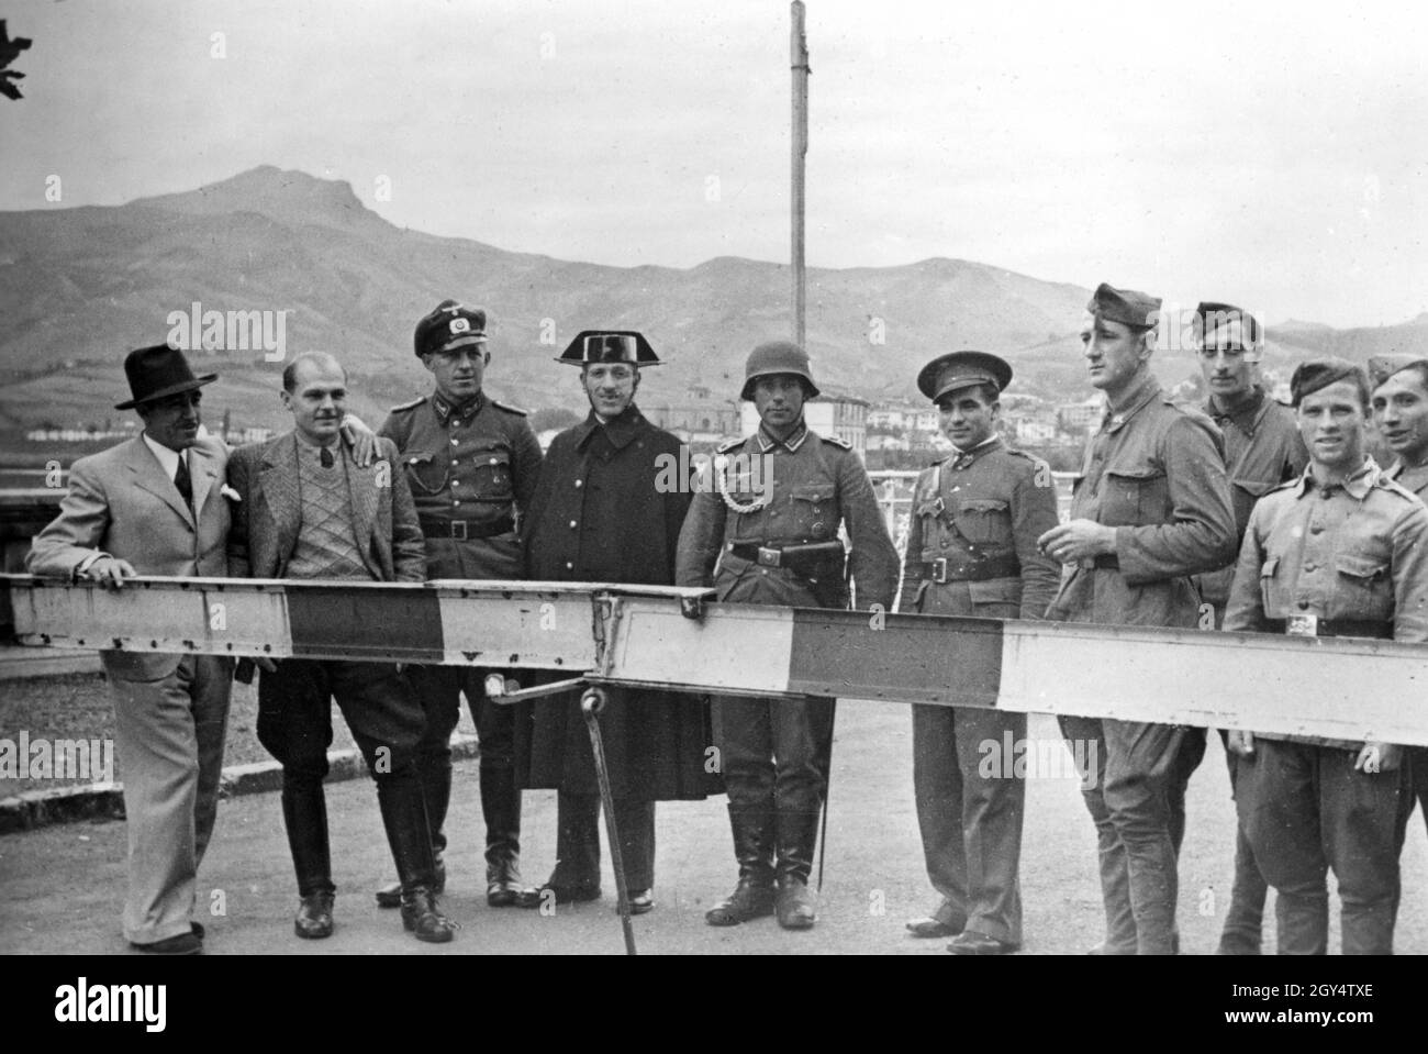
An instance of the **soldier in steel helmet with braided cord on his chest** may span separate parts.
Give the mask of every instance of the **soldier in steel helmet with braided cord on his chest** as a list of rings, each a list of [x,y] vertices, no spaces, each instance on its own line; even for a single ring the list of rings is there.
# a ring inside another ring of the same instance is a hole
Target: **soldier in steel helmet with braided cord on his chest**
[[[892,603],[897,550],[858,456],[804,423],[804,401],[817,394],[797,344],[770,341],[748,356],[741,396],[758,408],[758,431],[718,447],[703,473],[680,534],[680,586],[713,586],[720,601],[844,608],[843,524],[860,607]],[[735,925],[777,910],[780,925],[808,928],[833,701],[714,696],[713,717],[738,885],[705,921]]]

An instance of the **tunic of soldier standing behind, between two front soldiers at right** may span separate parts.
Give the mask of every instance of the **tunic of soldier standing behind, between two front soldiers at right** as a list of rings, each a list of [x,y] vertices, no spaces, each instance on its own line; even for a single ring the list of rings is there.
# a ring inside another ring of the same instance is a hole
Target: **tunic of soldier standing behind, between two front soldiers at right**
[[[1205,400],[1201,408],[1224,436],[1235,530],[1244,538],[1255,501],[1302,473],[1309,463],[1309,451],[1304,448],[1294,411],[1269,398],[1258,386],[1251,398],[1232,413],[1221,414],[1212,400]],[[1234,577],[1234,561],[1218,571],[1195,576],[1201,600],[1215,606],[1217,621],[1224,621]]]

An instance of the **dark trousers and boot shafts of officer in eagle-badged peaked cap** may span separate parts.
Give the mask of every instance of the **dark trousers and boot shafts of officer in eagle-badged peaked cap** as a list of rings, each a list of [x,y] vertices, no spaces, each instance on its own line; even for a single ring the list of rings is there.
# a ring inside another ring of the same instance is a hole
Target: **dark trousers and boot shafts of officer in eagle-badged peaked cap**
[[[461,696],[481,740],[481,808],[486,817],[486,858],[520,854],[521,807],[516,787],[516,708],[486,697],[486,668],[417,666],[411,683],[426,711],[426,731],[417,743],[417,767],[427,790],[433,848],[447,845],[446,814],[451,794],[451,733],[461,718]]]

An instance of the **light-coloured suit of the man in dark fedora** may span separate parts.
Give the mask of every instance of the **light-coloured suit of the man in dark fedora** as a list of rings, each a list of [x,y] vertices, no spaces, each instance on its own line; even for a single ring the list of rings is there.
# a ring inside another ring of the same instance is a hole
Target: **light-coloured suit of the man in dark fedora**
[[[103,551],[143,576],[226,577],[227,458],[216,438],[190,447],[196,513],[143,438],[80,458],[60,514],[34,538],[26,568],[71,578]],[[100,660],[129,820],[124,935],[153,944],[190,931],[196,874],[217,815],[233,660],[130,651],[100,651]]]

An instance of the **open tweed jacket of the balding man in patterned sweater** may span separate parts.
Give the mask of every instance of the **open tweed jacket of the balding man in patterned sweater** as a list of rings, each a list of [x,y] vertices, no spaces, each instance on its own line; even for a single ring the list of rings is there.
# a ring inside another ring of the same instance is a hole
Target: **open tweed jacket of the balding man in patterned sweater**
[[[346,446],[353,536],[361,560],[377,581],[426,581],[426,543],[397,446],[377,440],[377,454],[360,468]],[[228,536],[228,567],[234,578],[283,578],[303,526],[297,480],[297,434],[234,450],[228,483],[243,501]]]

